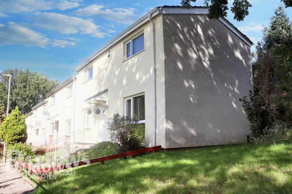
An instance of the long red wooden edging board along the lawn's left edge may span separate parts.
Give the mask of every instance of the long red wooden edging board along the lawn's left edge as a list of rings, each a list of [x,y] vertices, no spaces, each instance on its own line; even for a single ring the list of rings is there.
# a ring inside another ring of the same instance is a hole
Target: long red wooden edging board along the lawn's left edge
[[[133,150],[133,151],[128,151],[128,152],[123,152],[120,154],[114,154],[114,155],[109,155],[109,156],[103,156],[103,157],[99,157],[99,158],[93,158],[90,160],[85,160],[85,161],[80,161],[80,162],[73,162],[73,163],[67,163],[67,164],[62,164],[62,165],[58,165],[58,166],[53,166],[53,167],[46,167],[46,168],[37,168],[36,166],[33,166],[31,164],[25,163],[25,162],[21,162],[21,161],[17,161],[18,164],[26,169],[30,170],[30,174],[35,173],[37,175],[42,175],[42,174],[46,174],[49,172],[55,172],[55,171],[59,171],[59,170],[64,170],[67,168],[74,168],[77,166],[83,166],[83,165],[89,165],[92,163],[96,163],[96,162],[104,162],[104,161],[109,161],[109,160],[113,160],[113,159],[117,159],[117,158],[124,158],[127,156],[133,156],[136,154],[142,154],[142,153],[146,153],[146,152],[150,152],[150,151],[155,151],[155,150],[160,150],[161,146],[155,146],[155,147],[148,147],[148,148],[143,148],[143,149],[137,149],[137,150]]]

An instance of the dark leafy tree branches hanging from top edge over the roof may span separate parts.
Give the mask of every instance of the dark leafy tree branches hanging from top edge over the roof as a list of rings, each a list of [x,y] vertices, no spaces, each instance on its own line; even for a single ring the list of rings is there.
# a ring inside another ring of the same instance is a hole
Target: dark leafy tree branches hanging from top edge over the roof
[[[197,0],[182,0],[183,8],[191,8],[191,1]],[[281,0],[285,3],[286,7],[292,7],[292,0]],[[208,17],[210,19],[218,19],[219,17],[226,17],[228,10],[228,0],[205,0],[204,5],[209,7]],[[248,9],[252,7],[248,0],[234,0],[231,12],[234,13],[234,19],[243,21],[245,16],[248,16]]]

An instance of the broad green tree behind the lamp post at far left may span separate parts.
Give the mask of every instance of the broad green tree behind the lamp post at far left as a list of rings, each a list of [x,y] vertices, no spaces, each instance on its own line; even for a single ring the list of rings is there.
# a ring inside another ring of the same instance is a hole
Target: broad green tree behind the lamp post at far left
[[[57,81],[51,81],[43,73],[37,73],[28,69],[6,69],[2,74],[11,74],[11,89],[9,111],[18,106],[22,113],[29,113],[32,107],[46,98]],[[8,77],[0,76],[0,107],[7,110]]]

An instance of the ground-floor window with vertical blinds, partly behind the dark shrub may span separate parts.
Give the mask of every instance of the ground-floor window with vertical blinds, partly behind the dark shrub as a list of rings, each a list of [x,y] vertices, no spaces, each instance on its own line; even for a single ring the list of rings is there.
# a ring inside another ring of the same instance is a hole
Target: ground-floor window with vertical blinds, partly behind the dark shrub
[[[139,123],[145,123],[145,95],[126,99],[126,116],[137,117]]]

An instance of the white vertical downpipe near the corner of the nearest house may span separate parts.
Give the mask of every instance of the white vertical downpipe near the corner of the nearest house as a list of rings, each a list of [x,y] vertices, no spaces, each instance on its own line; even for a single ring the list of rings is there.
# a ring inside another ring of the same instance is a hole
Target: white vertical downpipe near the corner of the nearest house
[[[156,69],[155,69],[155,26],[151,19],[152,14],[148,13],[149,21],[152,23],[152,78],[153,78],[153,129],[152,146],[156,146]]]

